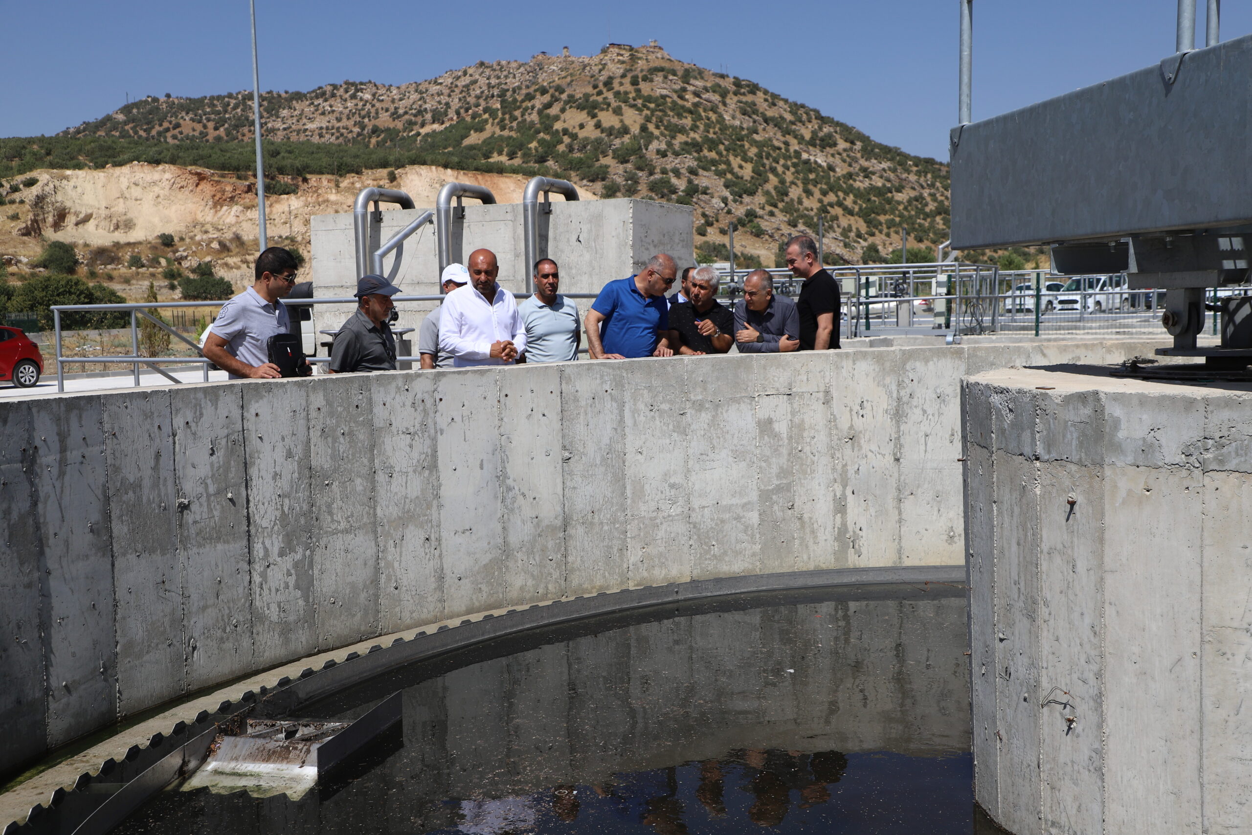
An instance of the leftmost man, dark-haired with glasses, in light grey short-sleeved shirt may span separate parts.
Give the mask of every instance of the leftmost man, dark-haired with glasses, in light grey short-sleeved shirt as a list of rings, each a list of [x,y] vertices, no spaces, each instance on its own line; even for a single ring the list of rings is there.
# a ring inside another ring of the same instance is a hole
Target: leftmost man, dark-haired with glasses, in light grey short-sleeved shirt
[[[230,379],[277,378],[283,372],[269,362],[269,338],[290,332],[282,299],[295,285],[295,258],[282,247],[260,253],[255,283],[222,305],[204,341],[204,357]],[[308,364],[303,367],[308,373]]]

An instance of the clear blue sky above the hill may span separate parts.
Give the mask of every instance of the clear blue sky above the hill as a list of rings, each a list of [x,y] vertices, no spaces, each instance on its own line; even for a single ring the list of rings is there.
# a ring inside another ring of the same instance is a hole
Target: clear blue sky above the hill
[[[1203,45],[1199,0],[1198,38]],[[655,38],[846,121],[947,159],[957,120],[957,0],[767,3],[546,0],[518,4],[257,0],[263,89],[418,81],[478,60],[597,51]],[[1176,0],[978,0],[974,118],[1159,61]],[[250,89],[248,0],[0,0],[0,135],[53,134],[146,94]],[[1252,33],[1227,0],[1223,39]]]

